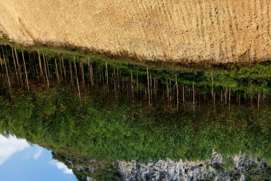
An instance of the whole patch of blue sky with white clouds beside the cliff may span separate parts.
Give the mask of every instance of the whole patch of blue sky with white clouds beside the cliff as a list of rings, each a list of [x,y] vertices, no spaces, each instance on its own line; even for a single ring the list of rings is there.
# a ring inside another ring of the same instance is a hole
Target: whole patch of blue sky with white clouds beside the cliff
[[[0,135],[1,181],[77,181],[63,163],[52,159],[51,151],[30,146],[24,139]]]

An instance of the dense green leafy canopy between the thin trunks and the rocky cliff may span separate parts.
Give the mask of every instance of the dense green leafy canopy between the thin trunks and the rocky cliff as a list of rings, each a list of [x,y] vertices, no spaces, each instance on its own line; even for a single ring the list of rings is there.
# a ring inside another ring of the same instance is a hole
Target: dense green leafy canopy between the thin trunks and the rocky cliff
[[[80,151],[103,160],[204,160],[215,149],[270,159],[270,106],[259,112],[250,105],[240,110],[232,105],[230,111],[202,106],[193,119],[192,107],[177,113],[167,105],[151,110],[136,101],[133,108],[130,97],[107,97],[98,90],[85,95],[80,107],[66,87],[16,93],[12,100],[1,96],[0,104],[1,134],[49,143],[71,157]]]

